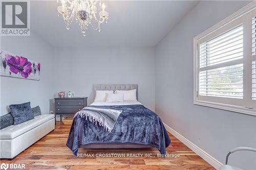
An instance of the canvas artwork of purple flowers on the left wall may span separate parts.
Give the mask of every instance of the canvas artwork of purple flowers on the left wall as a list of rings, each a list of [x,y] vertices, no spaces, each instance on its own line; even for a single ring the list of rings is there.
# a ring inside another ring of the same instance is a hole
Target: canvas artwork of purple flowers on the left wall
[[[24,56],[0,50],[0,75],[23,79],[40,80],[41,64]]]

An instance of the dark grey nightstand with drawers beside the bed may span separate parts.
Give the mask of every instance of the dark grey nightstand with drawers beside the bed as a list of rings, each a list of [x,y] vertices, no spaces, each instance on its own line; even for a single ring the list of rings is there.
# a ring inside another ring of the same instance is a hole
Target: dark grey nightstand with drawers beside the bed
[[[77,97],[77,98],[54,98],[55,103],[55,124],[56,115],[63,114],[75,114],[82,108],[87,106],[87,97]]]

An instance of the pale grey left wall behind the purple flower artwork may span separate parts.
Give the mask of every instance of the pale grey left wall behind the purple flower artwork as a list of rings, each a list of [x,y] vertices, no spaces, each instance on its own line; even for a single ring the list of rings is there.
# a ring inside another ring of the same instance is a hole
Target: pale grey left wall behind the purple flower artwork
[[[0,48],[41,63],[40,81],[0,77],[0,115],[9,112],[9,105],[25,102],[31,102],[31,107],[39,105],[42,114],[49,114],[49,100],[53,98],[52,47],[32,32],[31,36],[2,36]]]

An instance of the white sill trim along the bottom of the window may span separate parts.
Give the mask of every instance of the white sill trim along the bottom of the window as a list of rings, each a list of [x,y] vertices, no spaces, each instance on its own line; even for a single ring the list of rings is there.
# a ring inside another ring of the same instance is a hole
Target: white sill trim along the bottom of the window
[[[194,104],[256,116],[256,109],[249,109],[249,108],[246,108],[246,107],[239,107],[239,106],[226,105],[226,104],[213,103],[213,102],[206,102],[206,101],[199,101],[199,100],[196,100],[194,102]]]

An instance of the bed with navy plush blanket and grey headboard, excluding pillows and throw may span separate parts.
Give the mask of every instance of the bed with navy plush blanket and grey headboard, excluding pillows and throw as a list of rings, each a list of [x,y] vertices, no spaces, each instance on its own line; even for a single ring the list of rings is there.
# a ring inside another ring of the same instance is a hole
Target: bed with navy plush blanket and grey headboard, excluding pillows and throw
[[[136,84],[99,84],[94,85],[96,90],[133,90]],[[94,98],[94,96],[93,96]],[[99,109],[122,110],[111,132],[105,131],[89,119],[74,116],[67,147],[74,155],[79,148],[151,148],[154,147],[165,155],[165,148],[170,144],[170,138],[160,117],[153,111],[145,108],[140,102],[93,102],[90,107]]]

